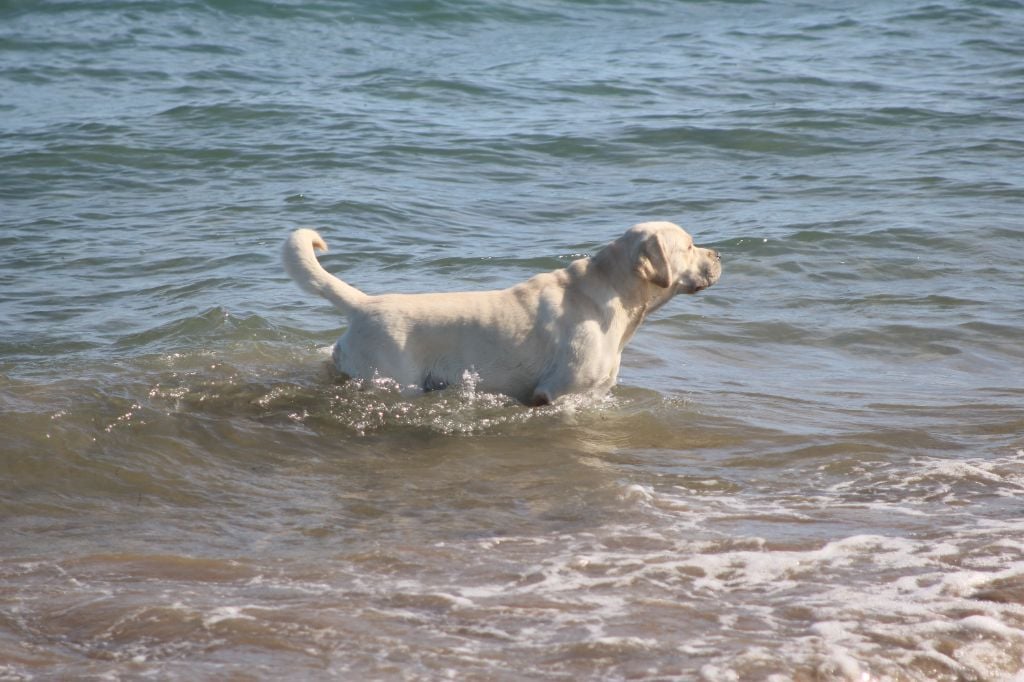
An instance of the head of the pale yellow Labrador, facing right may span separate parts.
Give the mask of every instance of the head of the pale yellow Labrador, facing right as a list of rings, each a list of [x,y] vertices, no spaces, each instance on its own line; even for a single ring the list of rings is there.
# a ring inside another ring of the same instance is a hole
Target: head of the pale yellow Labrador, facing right
[[[643,281],[675,294],[695,294],[722,274],[717,251],[693,244],[686,230],[671,222],[642,222],[622,237],[633,257],[633,270]]]

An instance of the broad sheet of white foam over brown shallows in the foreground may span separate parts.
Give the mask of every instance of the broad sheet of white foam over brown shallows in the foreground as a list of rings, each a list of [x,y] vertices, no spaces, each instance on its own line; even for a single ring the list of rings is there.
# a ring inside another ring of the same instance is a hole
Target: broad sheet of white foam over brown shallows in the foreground
[[[1007,459],[976,466],[1004,481],[1013,475]],[[937,466],[916,474],[927,481],[930,472],[951,471],[1004,484],[971,468]],[[545,652],[586,642],[624,658],[668,644],[696,662],[702,679],[716,681],[752,679],[752,670],[757,679],[792,679],[795,670],[851,682],[925,679],[918,671],[926,659],[950,677],[1001,679],[1024,659],[1024,608],[978,597],[1024,580],[1024,518],[977,518],[969,505],[922,504],[921,511],[936,518],[933,529],[895,513],[906,500],[883,491],[869,516],[890,510],[889,517],[899,518],[871,527],[849,523],[866,506],[859,498],[844,500],[845,491],[795,504],[760,491],[713,495],[674,485],[672,478],[640,480],[624,475],[602,501],[604,515],[572,532],[445,535],[430,545],[460,557],[444,570],[376,573],[339,559],[321,580],[255,576],[231,586],[216,608],[187,608],[207,628],[219,624],[220,636],[231,621],[259,621],[293,597],[324,603],[323,621],[343,617],[354,601],[377,620],[443,637],[445,650],[466,660],[479,660],[494,642],[506,641]],[[837,509],[847,516],[825,526],[815,508],[826,518]],[[769,522],[763,519],[793,527],[797,517],[814,521],[812,531],[827,527],[834,536],[760,532]],[[185,608],[178,598],[166,601]],[[652,613],[660,619],[654,625]],[[673,626],[655,630],[662,623]],[[317,643],[323,638],[329,649],[336,633],[310,627],[308,636]]]

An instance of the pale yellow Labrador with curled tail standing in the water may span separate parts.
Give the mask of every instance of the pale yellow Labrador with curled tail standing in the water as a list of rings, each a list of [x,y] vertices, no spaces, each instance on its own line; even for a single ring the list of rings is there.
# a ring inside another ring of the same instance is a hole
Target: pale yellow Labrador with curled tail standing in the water
[[[295,230],[285,268],[348,318],[333,353],[341,374],[429,391],[469,372],[479,390],[534,407],[606,393],[644,318],[722,273],[719,253],[671,222],[634,225],[592,257],[496,291],[371,296],[325,270],[314,250],[327,251],[321,236]]]

